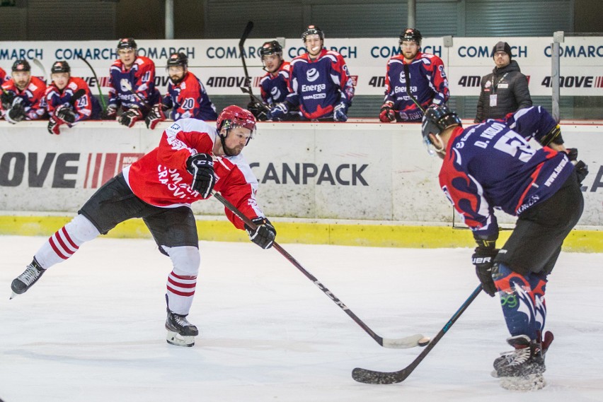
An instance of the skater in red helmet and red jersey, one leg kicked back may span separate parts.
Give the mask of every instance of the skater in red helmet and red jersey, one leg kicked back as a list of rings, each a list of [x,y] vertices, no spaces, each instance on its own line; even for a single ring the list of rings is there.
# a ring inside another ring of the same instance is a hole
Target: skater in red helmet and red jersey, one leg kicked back
[[[197,119],[180,119],[161,136],[159,146],[125,167],[88,199],[71,222],[57,230],[11,284],[14,295],[28,290],[48,268],[72,256],[84,242],[106,234],[130,218],[142,218],[170,257],[166,329],[168,343],[194,345],[197,327],[186,316],[193,303],[200,265],[197,226],[190,204],[219,191],[253,220],[246,227],[229,210],[226,216],[252,242],[272,247],[276,230],[255,201],[258,181],[241,154],[255,132],[255,118],[238,106],[224,108],[217,129]]]

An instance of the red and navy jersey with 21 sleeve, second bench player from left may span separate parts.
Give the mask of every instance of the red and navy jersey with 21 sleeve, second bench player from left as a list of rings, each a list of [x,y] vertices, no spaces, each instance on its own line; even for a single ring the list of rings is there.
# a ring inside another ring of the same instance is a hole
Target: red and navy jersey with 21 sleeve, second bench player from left
[[[85,94],[79,97],[79,99],[71,105],[71,96],[80,89],[83,89]],[[88,87],[86,81],[81,78],[69,78],[69,81],[67,81],[67,85],[63,90],[59,90],[57,85],[51,83],[46,88],[45,97],[47,104],[46,108],[50,116],[53,116],[54,110],[61,105],[70,105],[73,108],[76,114],[76,122],[85,119],[98,119],[98,115],[101,112],[101,106],[98,104],[98,100],[96,100],[96,97],[93,97],[90,92],[90,87]]]

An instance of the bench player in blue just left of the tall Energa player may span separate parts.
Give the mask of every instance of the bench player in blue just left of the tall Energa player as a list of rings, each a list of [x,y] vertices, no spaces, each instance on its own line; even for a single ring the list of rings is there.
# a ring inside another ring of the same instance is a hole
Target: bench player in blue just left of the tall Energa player
[[[253,113],[256,119],[264,121],[268,118],[267,114],[272,107],[280,102],[285,102],[289,95],[289,78],[291,65],[282,58],[282,46],[277,40],[264,42],[260,47],[260,57],[262,59],[265,75],[260,78],[260,91],[263,100],[262,104],[250,102],[247,109]],[[281,117],[275,118],[280,121],[297,121],[300,114],[297,107],[291,106],[289,111]]]

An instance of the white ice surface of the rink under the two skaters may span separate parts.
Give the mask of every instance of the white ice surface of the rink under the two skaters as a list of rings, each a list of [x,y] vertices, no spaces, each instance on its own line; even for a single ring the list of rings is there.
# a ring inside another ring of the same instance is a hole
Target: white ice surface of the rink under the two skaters
[[[562,253],[549,276],[541,391],[490,377],[508,350],[499,302],[475,302],[401,384],[420,348],[381,348],[275,250],[201,242],[189,319],[193,348],[165,341],[171,264],[152,240],[99,238],[8,300],[43,237],[0,237],[0,398],[4,402],[603,401],[603,254]],[[478,284],[470,249],[283,244],[380,336],[433,337]]]

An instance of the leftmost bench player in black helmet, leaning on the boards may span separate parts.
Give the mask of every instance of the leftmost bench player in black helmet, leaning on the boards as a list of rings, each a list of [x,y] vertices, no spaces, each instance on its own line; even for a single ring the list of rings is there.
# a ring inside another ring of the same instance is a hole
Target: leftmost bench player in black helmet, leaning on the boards
[[[37,120],[46,117],[44,92],[46,84],[31,76],[27,60],[13,63],[11,80],[1,85],[0,112],[7,122],[16,124],[22,120]]]

